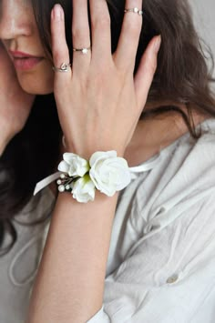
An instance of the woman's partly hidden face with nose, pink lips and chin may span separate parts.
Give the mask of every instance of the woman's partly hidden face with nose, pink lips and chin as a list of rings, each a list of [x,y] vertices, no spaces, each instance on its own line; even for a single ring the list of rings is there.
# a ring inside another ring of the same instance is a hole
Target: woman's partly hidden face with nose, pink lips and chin
[[[36,95],[53,92],[54,72],[40,41],[30,0],[0,0],[0,39],[22,88]]]

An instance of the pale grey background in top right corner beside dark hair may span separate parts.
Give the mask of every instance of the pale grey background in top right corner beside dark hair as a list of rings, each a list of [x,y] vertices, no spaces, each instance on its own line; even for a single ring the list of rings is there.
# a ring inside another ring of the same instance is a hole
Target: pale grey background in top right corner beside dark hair
[[[215,0],[189,0],[189,4],[199,35],[210,45],[215,58]]]

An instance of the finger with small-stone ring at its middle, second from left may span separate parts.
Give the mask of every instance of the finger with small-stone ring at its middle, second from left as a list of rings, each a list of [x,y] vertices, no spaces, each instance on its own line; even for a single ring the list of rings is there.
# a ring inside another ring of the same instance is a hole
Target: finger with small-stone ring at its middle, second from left
[[[73,73],[79,75],[81,71],[86,71],[86,67],[91,61],[91,51],[84,50],[91,45],[87,0],[73,1],[72,35],[73,47],[77,49],[73,53]]]

